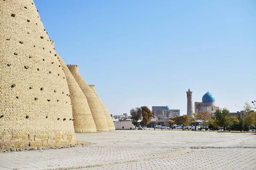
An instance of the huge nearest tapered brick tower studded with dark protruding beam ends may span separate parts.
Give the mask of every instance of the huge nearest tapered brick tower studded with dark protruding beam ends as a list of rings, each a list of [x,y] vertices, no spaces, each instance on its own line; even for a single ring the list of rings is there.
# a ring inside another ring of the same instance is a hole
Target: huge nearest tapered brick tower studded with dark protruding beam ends
[[[1,0],[0,11],[0,149],[75,144],[66,77],[34,2]]]

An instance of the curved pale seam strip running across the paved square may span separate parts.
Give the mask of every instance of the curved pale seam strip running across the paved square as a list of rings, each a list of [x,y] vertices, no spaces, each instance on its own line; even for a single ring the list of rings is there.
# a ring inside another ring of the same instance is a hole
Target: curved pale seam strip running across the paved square
[[[154,158],[147,158],[147,159],[138,159],[138,160],[131,160],[131,161],[121,161],[121,162],[112,162],[112,163],[106,163],[106,164],[95,164],[95,165],[85,165],[85,166],[78,166],[78,167],[63,167],[63,168],[53,168],[53,169],[44,169],[44,170],[72,170],[72,169],[79,169],[79,168],[90,168],[90,167],[103,167],[103,166],[110,166],[110,165],[117,165],[117,164],[128,164],[128,163],[134,163],[134,162],[140,162],[140,161],[152,161],[156,159],[164,159],[169,158],[172,156],[182,155],[185,153],[191,152],[191,148],[186,148],[184,150],[178,151],[176,153],[171,153],[165,156],[157,156]]]

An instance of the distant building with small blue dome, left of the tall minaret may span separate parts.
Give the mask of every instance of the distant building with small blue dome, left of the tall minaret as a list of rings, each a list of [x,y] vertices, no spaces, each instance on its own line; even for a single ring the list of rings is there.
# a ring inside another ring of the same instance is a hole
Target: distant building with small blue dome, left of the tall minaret
[[[152,111],[155,112],[156,120],[180,116],[179,109],[170,109],[169,106],[152,106]]]

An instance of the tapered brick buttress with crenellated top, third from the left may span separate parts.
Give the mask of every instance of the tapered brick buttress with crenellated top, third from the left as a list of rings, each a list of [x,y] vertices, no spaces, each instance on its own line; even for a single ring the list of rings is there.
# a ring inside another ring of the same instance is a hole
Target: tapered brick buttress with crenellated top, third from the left
[[[79,74],[78,65],[67,65],[67,68],[69,68],[71,74],[76,79],[76,82],[79,84],[81,90],[86,96],[90,111],[93,115],[93,120],[96,124],[97,131],[108,131],[108,123],[106,116],[102,110],[102,106],[100,105],[96,94]]]

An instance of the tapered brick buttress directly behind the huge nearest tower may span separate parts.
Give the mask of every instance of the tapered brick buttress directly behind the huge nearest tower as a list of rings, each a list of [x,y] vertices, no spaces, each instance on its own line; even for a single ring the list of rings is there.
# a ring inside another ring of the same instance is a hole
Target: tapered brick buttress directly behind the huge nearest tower
[[[76,79],[70,73],[67,65],[57,54],[58,59],[61,62],[61,67],[67,77],[67,84],[70,91],[70,98],[72,103],[74,128],[76,133],[90,133],[96,132],[96,125],[93,120],[92,113],[90,111],[86,97],[83,91],[76,82]]]

